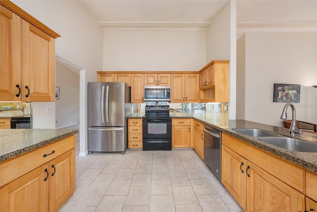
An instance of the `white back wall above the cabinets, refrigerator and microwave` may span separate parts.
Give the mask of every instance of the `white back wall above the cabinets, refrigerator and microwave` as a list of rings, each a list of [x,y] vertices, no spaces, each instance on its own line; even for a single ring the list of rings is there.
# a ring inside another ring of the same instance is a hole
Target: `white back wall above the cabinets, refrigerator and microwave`
[[[104,28],[103,71],[199,71],[205,65],[204,28]]]

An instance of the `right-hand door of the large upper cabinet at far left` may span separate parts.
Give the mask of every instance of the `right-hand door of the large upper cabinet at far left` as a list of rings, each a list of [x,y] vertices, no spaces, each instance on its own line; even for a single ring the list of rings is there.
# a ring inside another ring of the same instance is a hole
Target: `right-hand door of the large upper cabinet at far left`
[[[22,101],[55,101],[55,40],[22,20]]]

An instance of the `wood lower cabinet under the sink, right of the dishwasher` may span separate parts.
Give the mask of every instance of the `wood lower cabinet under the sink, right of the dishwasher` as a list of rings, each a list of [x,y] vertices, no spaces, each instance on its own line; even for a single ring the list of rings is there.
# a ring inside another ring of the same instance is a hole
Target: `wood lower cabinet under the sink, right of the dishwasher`
[[[304,176],[301,168],[222,134],[221,182],[245,211],[305,211]]]

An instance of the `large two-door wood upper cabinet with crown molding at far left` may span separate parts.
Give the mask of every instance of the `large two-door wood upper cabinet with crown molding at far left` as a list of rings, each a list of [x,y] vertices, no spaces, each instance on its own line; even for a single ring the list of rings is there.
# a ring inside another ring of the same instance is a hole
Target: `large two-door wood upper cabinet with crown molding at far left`
[[[47,26],[0,0],[0,101],[55,101],[55,38]]]

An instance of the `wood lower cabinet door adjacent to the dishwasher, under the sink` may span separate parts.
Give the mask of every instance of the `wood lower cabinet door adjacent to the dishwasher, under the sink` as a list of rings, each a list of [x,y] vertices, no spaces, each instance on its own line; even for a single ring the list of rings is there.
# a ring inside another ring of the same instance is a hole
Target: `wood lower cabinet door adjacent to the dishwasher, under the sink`
[[[225,145],[221,145],[221,183],[239,205],[246,209],[247,160]]]

